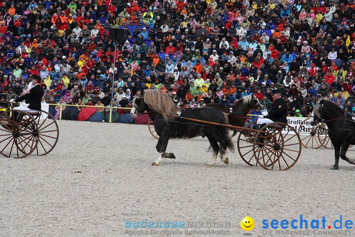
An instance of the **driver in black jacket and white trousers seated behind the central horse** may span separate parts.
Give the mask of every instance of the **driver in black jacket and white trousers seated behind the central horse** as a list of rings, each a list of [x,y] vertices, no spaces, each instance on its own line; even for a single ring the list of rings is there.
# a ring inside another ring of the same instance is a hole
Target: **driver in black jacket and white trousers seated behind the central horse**
[[[269,111],[262,112],[262,115],[259,115],[256,122],[255,129],[260,129],[267,124],[273,122],[284,122],[287,123],[287,104],[284,99],[281,97],[281,91],[276,89],[272,91],[273,103]]]

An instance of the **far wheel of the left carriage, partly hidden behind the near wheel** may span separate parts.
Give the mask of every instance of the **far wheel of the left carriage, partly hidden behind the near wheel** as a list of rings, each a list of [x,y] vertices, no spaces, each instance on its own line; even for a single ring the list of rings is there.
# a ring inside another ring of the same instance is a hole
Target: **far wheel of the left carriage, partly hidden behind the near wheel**
[[[55,118],[45,111],[41,111],[41,114],[34,115],[34,118],[38,125],[39,140],[38,146],[32,155],[44,156],[50,153],[58,142],[58,124]]]

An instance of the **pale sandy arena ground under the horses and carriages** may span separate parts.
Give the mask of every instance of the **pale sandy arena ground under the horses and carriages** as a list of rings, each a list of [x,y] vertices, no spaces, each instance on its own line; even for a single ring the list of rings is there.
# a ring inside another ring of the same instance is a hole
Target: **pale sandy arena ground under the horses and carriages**
[[[340,160],[340,169],[330,170],[330,149],[303,149],[287,171],[251,167],[230,152],[229,165],[218,158],[215,167],[207,168],[212,153],[200,137],[171,140],[168,152],[176,159],[155,167],[157,140],[146,125],[58,123],[60,139],[49,155],[0,158],[0,237],[168,236],[162,230],[182,233],[169,236],[236,237],[246,235],[240,226],[245,216],[255,221],[252,236],[270,236],[262,233],[263,219],[299,220],[302,214],[308,220],[325,216],[327,224],[340,215],[343,223],[355,221],[355,166]],[[351,148],[348,157],[354,155]],[[183,221],[185,227],[196,222],[200,227],[159,228],[155,234],[148,228],[125,228],[125,219]],[[211,228],[210,220],[223,227]],[[134,230],[149,232],[129,232]]]

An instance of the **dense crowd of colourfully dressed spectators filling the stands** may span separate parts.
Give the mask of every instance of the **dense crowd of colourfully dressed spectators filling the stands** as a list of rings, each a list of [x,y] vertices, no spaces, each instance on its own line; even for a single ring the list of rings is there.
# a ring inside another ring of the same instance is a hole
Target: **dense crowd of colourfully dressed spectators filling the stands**
[[[116,54],[109,28],[128,33]],[[39,76],[47,103],[127,107],[156,89],[184,108],[268,108],[278,88],[289,116],[320,96],[355,108],[353,0],[3,1],[0,36],[2,101]]]

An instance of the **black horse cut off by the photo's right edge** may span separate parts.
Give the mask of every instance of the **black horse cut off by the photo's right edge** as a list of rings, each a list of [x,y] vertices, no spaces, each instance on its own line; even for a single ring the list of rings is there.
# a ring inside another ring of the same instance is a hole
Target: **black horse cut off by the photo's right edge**
[[[355,145],[355,121],[332,102],[321,100],[317,103],[312,112],[310,122],[323,121],[328,127],[328,135],[334,146],[335,163],[331,169],[339,169],[340,158],[355,164],[354,159],[346,157],[350,145]]]

